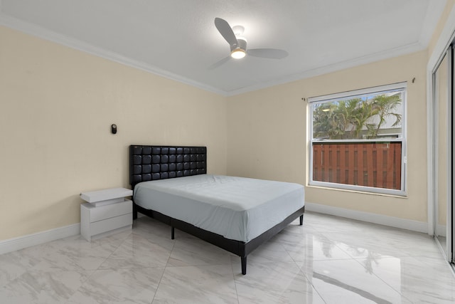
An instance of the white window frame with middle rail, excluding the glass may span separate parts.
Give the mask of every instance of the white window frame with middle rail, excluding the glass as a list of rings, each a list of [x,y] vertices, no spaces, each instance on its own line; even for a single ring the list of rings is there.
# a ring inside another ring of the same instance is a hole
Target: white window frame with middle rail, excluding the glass
[[[315,140],[313,134],[313,108],[312,105],[315,103],[326,103],[330,100],[338,99],[338,98],[348,98],[348,97],[355,97],[356,95],[365,95],[365,94],[372,94],[372,93],[380,93],[382,91],[387,90],[396,90],[396,89],[404,89],[403,96],[402,96],[402,135],[399,138],[392,139],[392,138],[375,138],[373,140]],[[363,88],[360,90],[350,90],[343,93],[334,93],[329,95],[321,95],[317,97],[309,98],[309,185],[310,186],[318,186],[318,187],[328,187],[328,188],[336,188],[336,189],[346,189],[346,190],[353,190],[359,192],[371,192],[371,193],[378,193],[378,194],[391,194],[391,195],[398,195],[398,196],[406,196],[407,195],[407,154],[406,154],[406,135],[407,135],[407,83],[393,83],[390,85],[380,85],[373,88]],[[378,188],[378,187],[365,187],[365,186],[356,186],[350,184],[338,184],[333,182],[320,182],[313,180],[313,144],[314,143],[321,143],[321,142],[402,142],[402,159],[401,159],[401,189],[386,189],[386,188]]]

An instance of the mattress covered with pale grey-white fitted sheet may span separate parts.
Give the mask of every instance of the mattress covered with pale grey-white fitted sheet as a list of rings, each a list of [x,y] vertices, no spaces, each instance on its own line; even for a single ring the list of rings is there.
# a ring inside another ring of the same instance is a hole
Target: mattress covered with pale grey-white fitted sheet
[[[255,239],[304,206],[304,187],[245,177],[199,174],[141,182],[134,202],[226,239]]]

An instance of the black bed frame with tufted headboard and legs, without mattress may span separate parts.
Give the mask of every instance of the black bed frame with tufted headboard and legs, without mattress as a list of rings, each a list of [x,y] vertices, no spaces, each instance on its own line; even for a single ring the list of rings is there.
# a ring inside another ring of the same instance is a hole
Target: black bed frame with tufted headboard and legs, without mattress
[[[129,183],[134,186],[139,182],[156,179],[171,179],[207,173],[207,148],[183,146],[129,146]],[[174,229],[180,229],[188,234],[208,241],[237,256],[242,263],[242,274],[247,273],[247,255],[262,243],[268,241],[275,234],[300,216],[300,225],[304,221],[305,206],[290,214],[284,221],[265,231],[247,243],[225,239],[219,234],[205,231],[192,224],[161,214],[154,210],[144,209],[133,201],[133,219],[137,219],[137,212],[150,216],[171,226],[171,239],[174,239]]]

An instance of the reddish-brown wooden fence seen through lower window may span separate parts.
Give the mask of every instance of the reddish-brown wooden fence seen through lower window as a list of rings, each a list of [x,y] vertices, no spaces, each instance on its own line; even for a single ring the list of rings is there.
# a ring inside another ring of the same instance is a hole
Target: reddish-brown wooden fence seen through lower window
[[[401,142],[314,143],[313,180],[401,189]]]

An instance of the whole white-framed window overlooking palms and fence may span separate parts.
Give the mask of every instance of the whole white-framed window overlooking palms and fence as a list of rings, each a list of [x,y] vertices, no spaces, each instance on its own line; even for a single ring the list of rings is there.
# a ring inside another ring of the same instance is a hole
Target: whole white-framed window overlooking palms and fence
[[[310,182],[405,195],[406,83],[309,98]]]

